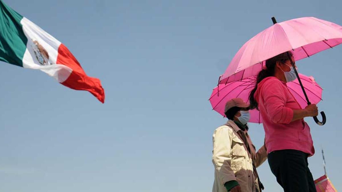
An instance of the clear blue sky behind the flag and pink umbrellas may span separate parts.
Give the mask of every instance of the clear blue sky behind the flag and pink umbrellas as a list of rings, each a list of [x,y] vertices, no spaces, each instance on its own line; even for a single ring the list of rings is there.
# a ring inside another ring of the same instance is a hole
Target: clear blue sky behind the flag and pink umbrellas
[[[342,2],[4,0],[63,42],[105,104],[45,73],[0,63],[0,191],[208,192],[212,133],[225,119],[208,98],[248,39],[278,22],[315,16],[342,25]],[[298,61],[325,88],[325,126],[306,121],[314,178],[341,177],[342,45]],[[250,124],[255,146],[262,125]],[[268,163],[265,192],[281,191]]]

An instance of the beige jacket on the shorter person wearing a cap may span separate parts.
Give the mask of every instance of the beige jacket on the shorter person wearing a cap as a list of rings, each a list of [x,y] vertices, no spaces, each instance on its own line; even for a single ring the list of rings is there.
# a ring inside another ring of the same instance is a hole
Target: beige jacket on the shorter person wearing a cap
[[[253,175],[253,164],[259,167],[267,159],[267,153],[262,146],[257,153],[255,147],[245,131],[251,154],[238,135],[241,129],[229,120],[225,125],[217,128],[213,134],[212,162],[215,167],[213,192],[226,192],[224,183],[236,180],[242,192],[255,192],[258,187],[257,178]]]

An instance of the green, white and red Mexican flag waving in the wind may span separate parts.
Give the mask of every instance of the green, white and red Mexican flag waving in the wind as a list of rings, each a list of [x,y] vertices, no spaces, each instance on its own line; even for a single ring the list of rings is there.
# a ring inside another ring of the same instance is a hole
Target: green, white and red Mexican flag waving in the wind
[[[99,79],[88,77],[77,59],[60,41],[18,14],[0,0],[0,60],[29,69],[39,69],[59,83],[85,90],[102,103]]]

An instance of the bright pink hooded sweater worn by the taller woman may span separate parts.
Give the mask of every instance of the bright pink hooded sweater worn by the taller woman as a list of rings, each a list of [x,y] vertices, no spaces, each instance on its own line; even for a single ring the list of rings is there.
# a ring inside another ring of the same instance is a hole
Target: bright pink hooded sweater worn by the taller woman
[[[303,119],[291,122],[293,109],[301,109],[286,83],[268,77],[258,84],[254,94],[265,129],[267,153],[295,149],[312,156],[315,153],[310,127]]]

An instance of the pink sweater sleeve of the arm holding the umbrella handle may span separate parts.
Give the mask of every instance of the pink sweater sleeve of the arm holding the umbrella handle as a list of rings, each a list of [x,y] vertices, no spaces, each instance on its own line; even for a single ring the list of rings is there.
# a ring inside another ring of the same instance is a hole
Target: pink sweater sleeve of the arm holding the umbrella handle
[[[293,110],[286,107],[287,90],[280,81],[265,82],[262,87],[262,97],[268,118],[273,123],[291,123]]]

